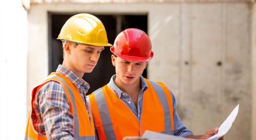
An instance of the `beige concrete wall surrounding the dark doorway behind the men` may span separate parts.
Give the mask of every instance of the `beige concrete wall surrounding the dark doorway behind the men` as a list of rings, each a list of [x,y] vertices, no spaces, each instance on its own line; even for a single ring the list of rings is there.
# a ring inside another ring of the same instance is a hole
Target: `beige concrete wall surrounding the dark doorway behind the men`
[[[164,81],[174,92],[185,126],[204,134],[218,127],[240,104],[225,139],[252,139],[251,4],[32,5],[28,12],[29,91],[48,74],[49,11],[148,13],[148,34],[155,52],[148,75]]]

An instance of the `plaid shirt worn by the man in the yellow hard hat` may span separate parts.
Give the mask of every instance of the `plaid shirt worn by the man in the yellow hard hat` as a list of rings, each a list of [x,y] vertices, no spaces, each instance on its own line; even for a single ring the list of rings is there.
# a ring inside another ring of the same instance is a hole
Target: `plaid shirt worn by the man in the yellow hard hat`
[[[88,110],[85,99],[90,85],[62,65],[58,66],[56,72],[68,77],[74,83]],[[73,115],[69,111],[68,98],[60,83],[47,82],[40,88],[32,104],[31,117],[37,132],[47,135],[48,139],[74,139]]]

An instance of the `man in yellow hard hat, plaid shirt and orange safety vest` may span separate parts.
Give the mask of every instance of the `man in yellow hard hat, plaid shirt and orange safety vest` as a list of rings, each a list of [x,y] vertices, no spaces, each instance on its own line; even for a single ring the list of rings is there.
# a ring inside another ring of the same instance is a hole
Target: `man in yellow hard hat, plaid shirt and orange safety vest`
[[[90,14],[72,16],[57,39],[63,63],[32,91],[25,139],[97,139],[82,79],[96,66],[108,43],[102,22]]]

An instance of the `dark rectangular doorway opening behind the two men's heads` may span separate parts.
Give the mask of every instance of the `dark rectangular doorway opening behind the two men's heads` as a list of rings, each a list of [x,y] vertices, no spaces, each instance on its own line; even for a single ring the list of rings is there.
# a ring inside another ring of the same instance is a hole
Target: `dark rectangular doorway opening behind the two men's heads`
[[[59,64],[63,61],[62,44],[57,40],[58,34],[63,24],[76,13],[59,14],[48,13],[48,42],[49,42],[49,73],[55,72]],[[105,26],[109,43],[113,44],[115,37],[127,28],[138,28],[147,33],[147,14],[144,15],[101,15],[91,13],[98,17]],[[109,47],[101,53],[97,66],[92,73],[86,73],[83,79],[90,83],[89,94],[98,88],[106,85],[111,76],[115,74],[115,67],[111,63],[111,51]],[[142,74],[147,77],[146,69]]]

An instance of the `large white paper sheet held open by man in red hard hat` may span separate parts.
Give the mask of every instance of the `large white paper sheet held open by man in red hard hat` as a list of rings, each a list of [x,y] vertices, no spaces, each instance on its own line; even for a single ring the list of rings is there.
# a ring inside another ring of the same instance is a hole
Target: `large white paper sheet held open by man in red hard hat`
[[[237,105],[237,107],[235,107],[233,109],[233,111],[230,113],[230,115],[227,117],[227,119],[221,124],[221,126],[219,127],[218,133],[215,134],[214,136],[211,136],[208,139],[217,140],[220,137],[222,137],[223,135],[225,135],[228,132],[228,130],[231,128],[234,120],[236,119],[236,117],[238,115],[238,110],[239,110],[239,104]],[[162,133],[157,133],[157,132],[148,131],[148,130],[145,131],[145,133],[143,134],[142,137],[145,137],[148,140],[165,140],[165,139],[194,140],[191,138],[184,138],[184,137],[179,137],[179,136],[175,136],[175,135],[162,134]]]

